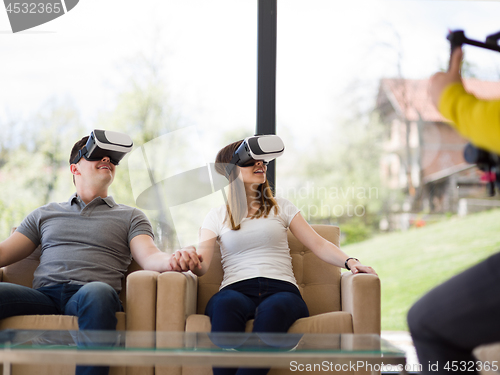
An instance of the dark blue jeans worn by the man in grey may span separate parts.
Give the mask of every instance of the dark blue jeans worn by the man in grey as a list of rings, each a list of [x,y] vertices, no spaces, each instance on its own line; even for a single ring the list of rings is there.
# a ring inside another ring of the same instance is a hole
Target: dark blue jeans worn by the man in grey
[[[116,329],[116,312],[123,311],[118,293],[108,284],[59,284],[31,289],[0,283],[0,319],[16,315],[74,315],[82,330]],[[77,366],[76,374],[105,375],[109,367]]]

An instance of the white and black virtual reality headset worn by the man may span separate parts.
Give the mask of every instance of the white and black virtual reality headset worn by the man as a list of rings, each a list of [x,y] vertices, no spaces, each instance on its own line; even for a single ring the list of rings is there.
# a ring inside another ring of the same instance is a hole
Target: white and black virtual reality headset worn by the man
[[[132,139],[127,134],[94,129],[90,133],[87,144],[78,152],[71,164],[78,163],[82,157],[89,161],[97,161],[108,156],[112,164],[118,165],[120,160],[132,150],[132,146]]]

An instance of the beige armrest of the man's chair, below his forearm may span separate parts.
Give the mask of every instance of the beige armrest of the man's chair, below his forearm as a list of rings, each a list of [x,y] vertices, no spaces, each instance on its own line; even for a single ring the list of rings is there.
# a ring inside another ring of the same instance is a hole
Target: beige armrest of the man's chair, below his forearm
[[[155,330],[158,275],[155,271],[135,271],[127,276],[127,331]]]

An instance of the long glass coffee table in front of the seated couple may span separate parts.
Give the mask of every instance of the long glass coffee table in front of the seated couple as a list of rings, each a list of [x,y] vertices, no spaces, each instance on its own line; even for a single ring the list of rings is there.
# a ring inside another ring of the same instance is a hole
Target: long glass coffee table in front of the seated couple
[[[405,372],[405,353],[378,335],[134,331],[0,331],[0,362],[120,366],[281,367]]]

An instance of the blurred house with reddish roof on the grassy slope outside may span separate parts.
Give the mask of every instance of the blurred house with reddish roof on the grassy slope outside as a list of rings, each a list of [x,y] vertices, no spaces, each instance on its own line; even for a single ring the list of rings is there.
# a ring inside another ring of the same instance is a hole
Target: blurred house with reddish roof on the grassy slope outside
[[[464,80],[483,99],[500,98],[500,82]],[[461,198],[485,198],[482,173],[467,164],[467,141],[427,95],[428,80],[382,79],[377,110],[385,126],[383,181],[407,196],[408,212],[457,213]]]

